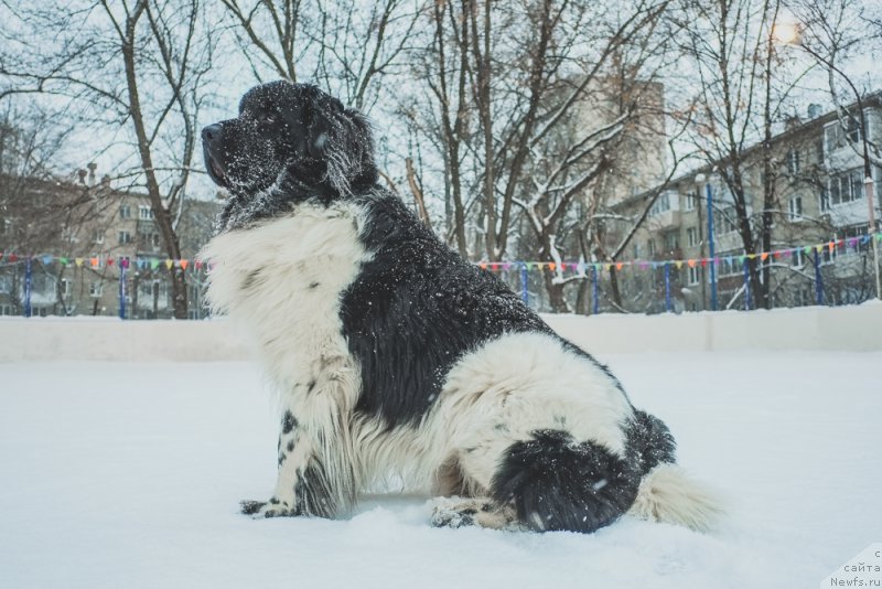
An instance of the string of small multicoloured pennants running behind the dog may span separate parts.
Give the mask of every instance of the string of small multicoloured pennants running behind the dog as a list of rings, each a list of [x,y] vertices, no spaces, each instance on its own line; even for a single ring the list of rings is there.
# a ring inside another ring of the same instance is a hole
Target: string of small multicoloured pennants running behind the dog
[[[825,250],[829,251],[830,254],[837,253],[839,250],[848,250],[848,248],[852,248],[857,251],[861,246],[865,246],[870,243],[871,238],[875,238],[876,242],[882,242],[882,233],[876,233],[873,235],[863,235],[860,237],[847,237],[841,239],[831,239],[829,242],[824,242],[820,244],[813,244],[807,246],[800,247],[789,247],[784,249],[774,249],[772,251],[763,251],[760,254],[741,254],[734,256],[718,256],[714,258],[687,258],[687,259],[668,259],[668,260],[645,260],[645,259],[637,259],[637,260],[627,260],[627,261],[615,261],[615,263],[591,263],[591,261],[481,261],[477,265],[485,269],[485,270],[510,270],[513,268],[517,269],[527,269],[527,270],[544,270],[549,269],[551,271],[555,270],[572,270],[579,274],[584,272],[587,269],[593,268],[594,270],[605,269],[610,271],[613,267],[616,270],[622,270],[625,267],[636,267],[642,270],[648,269],[656,269],[662,268],[665,266],[674,266],[677,269],[682,268],[684,266],[695,268],[697,266],[707,267],[709,264],[714,264],[719,266],[720,264],[733,264],[735,261],[740,264],[744,264],[747,259],[755,259],[760,258],[762,261],[766,261],[770,257],[777,260],[781,258],[788,258],[798,253],[804,254],[811,254],[816,251],[818,254],[824,253]],[[87,268],[110,268],[115,265],[125,268],[125,269],[139,269],[139,270],[157,270],[161,267],[165,267],[168,270],[172,268],[180,268],[181,270],[211,270],[213,264],[208,260],[204,259],[159,259],[159,258],[128,258],[128,257],[110,257],[110,256],[92,256],[92,257],[66,257],[66,256],[55,256],[55,255],[41,255],[41,256],[20,256],[15,253],[4,253],[0,251],[0,263],[8,263],[8,264],[15,264],[19,261],[26,261],[26,260],[39,260],[44,266],[49,266],[54,263],[60,263],[63,266],[67,266],[73,264],[77,268],[87,267]]]

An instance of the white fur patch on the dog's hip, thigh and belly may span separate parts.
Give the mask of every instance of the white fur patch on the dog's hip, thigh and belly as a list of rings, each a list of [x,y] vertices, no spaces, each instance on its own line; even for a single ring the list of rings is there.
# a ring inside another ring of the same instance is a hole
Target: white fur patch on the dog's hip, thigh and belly
[[[366,421],[355,438],[359,472],[376,481],[391,469],[410,485],[444,489],[454,464],[465,491],[484,495],[505,450],[537,429],[568,431],[624,454],[631,406],[595,364],[545,333],[507,334],[465,354],[450,371],[418,428],[387,432]],[[383,482],[380,479],[379,482]]]

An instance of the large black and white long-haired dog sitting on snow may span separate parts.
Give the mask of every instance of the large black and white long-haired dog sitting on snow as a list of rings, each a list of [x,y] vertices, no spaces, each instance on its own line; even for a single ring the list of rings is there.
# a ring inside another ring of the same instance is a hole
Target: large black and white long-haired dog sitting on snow
[[[437,525],[709,526],[719,508],[667,427],[377,183],[361,114],[276,82],[202,137],[230,194],[208,297],[283,404],[276,490],[244,513],[333,517],[392,475],[454,496]]]

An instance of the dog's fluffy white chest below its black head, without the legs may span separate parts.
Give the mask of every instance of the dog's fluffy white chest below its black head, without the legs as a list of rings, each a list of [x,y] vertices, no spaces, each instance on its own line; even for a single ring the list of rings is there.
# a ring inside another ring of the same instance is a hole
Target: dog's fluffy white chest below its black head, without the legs
[[[301,205],[289,216],[219,235],[204,249],[213,263],[208,299],[255,340],[283,390],[334,385],[352,404],[359,377],[342,334],[341,296],[367,258],[358,210]],[[344,390],[345,389],[345,390]]]

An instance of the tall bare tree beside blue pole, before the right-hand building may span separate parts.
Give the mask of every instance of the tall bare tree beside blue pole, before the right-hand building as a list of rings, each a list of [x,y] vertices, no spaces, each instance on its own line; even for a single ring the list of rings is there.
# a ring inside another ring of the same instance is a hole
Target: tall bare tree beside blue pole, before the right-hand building
[[[700,160],[718,175],[724,188],[717,204],[734,207],[751,278],[751,291],[760,307],[770,307],[771,268],[757,253],[772,246],[777,169],[773,162],[772,136],[785,118],[787,99],[798,74],[784,67],[773,36],[781,11],[779,0],[689,1],[681,7],[685,56],[698,77],[696,132],[691,137]],[[754,161],[745,149],[759,142],[763,174],[762,205],[753,210],[746,174]]]

